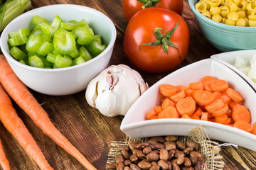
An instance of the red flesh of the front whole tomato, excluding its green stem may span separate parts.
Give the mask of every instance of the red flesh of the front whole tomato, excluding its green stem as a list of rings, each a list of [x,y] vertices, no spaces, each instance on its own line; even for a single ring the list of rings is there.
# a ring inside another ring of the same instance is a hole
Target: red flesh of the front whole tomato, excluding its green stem
[[[164,28],[166,33],[169,33],[177,23],[178,27],[169,40],[180,50],[176,47],[168,47],[169,54],[167,54],[161,45],[142,45],[157,40],[154,34],[155,28]],[[125,55],[135,67],[145,72],[167,72],[181,64],[188,53],[188,26],[186,21],[174,11],[146,8],[137,12],[129,21],[123,45]]]

